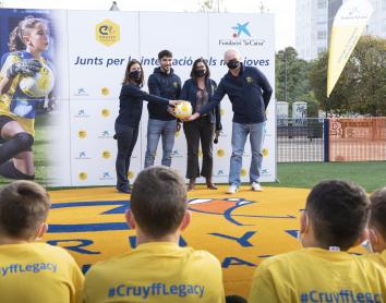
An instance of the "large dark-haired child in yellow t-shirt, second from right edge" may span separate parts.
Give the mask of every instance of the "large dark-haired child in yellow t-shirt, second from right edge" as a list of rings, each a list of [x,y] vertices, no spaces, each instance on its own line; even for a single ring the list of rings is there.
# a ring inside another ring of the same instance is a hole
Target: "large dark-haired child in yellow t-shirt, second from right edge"
[[[385,270],[347,252],[366,238],[369,214],[362,187],[338,180],[315,185],[300,219],[304,249],[264,260],[249,302],[385,302]]]

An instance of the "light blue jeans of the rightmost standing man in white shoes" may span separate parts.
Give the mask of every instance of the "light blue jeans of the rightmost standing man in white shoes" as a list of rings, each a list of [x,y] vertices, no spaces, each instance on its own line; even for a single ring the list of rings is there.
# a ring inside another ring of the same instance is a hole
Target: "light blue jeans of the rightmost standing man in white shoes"
[[[233,122],[232,124],[232,156],[230,157],[229,169],[229,183],[240,186],[240,172],[242,167],[242,155],[244,153],[244,146],[246,137],[250,134],[252,160],[250,167],[250,182],[258,182],[258,178],[262,173],[263,163],[263,142],[264,130],[266,122],[240,124]]]

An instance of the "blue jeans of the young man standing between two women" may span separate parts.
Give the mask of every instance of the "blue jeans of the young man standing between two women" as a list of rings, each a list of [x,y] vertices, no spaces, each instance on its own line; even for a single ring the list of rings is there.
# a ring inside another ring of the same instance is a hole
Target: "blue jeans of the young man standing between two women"
[[[162,161],[166,167],[171,166],[171,153],[174,146],[177,120],[162,121],[148,119],[147,122],[147,147],[145,156],[145,168],[154,165],[159,137],[162,136]]]

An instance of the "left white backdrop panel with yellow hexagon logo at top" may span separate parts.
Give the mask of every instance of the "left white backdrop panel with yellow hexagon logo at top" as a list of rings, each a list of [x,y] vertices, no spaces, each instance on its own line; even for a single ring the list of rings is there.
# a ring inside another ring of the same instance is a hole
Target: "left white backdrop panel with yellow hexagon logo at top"
[[[137,12],[69,11],[72,185],[116,184],[114,120],[129,58],[138,58]],[[142,137],[130,166],[141,169]]]

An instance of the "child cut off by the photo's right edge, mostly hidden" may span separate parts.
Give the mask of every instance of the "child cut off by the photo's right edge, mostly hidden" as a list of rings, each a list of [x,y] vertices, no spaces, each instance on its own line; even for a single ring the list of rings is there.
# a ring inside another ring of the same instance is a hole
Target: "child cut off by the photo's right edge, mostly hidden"
[[[370,196],[369,241],[373,254],[364,255],[386,268],[386,187]]]

